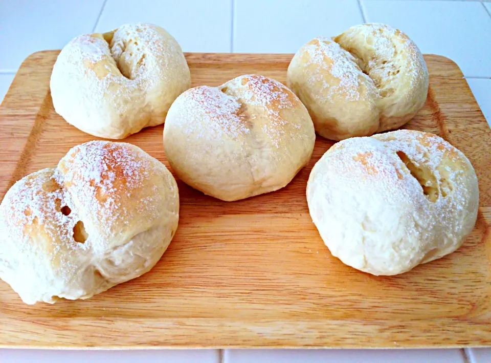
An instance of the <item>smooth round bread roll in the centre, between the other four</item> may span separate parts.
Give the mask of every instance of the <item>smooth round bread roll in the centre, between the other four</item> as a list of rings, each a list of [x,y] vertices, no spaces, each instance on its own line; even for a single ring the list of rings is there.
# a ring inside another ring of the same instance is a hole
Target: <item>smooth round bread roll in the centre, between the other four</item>
[[[224,201],[284,187],[310,160],[315,139],[297,96],[259,75],[184,92],[164,125],[164,148],[176,175]]]

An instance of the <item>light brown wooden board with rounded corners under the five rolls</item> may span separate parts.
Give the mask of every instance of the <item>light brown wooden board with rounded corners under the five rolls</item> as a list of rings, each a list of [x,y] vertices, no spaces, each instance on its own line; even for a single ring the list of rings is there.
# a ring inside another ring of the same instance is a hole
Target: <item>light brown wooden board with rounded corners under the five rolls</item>
[[[0,106],[0,198],[18,179],[95,139],[54,110],[58,51],[31,55]],[[193,86],[260,73],[285,82],[292,55],[188,53]],[[181,181],[179,228],[161,261],[86,301],[28,306],[0,281],[0,346],[100,348],[462,347],[491,345],[491,132],[457,65],[426,55],[430,90],[409,129],[436,133],[474,165],[480,208],[464,245],[376,277],[333,258],[311,222],[305,187],[332,145],[317,138],[285,188],[238,202]],[[168,166],[163,125],[125,139]]]

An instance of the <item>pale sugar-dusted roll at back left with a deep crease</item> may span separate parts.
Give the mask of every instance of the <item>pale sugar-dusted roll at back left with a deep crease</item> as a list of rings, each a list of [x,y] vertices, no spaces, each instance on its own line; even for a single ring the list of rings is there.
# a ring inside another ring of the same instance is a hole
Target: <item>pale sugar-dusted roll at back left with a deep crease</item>
[[[58,55],[50,82],[59,115],[108,139],[164,123],[172,102],[189,87],[181,47],[151,24],[76,37]]]

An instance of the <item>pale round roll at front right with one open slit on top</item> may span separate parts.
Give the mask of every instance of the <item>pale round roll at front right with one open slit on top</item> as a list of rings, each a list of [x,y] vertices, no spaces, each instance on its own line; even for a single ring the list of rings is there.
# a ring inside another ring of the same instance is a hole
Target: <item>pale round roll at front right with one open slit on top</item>
[[[476,222],[479,188],[457,148],[400,130],[332,146],[310,173],[307,202],[333,256],[395,275],[462,245]]]

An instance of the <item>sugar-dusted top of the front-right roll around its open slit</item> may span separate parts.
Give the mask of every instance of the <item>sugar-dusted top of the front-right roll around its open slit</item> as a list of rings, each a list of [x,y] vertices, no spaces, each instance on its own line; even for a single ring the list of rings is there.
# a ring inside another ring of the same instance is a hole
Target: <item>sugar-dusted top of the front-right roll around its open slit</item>
[[[399,130],[351,138],[334,145],[329,153],[333,153],[333,167],[346,170],[346,182],[354,178],[360,184],[376,183],[387,201],[402,198],[428,213],[438,210],[439,215],[449,208],[463,208],[466,185],[461,177],[472,166],[436,135]]]

